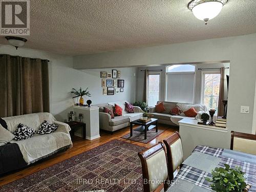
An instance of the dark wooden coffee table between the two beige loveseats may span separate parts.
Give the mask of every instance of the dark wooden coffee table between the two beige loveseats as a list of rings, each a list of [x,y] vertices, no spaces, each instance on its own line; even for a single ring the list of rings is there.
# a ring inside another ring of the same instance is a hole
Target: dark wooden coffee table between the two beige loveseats
[[[144,139],[146,139],[147,138],[146,132],[149,130],[152,130],[155,127],[156,127],[156,133],[157,133],[158,132],[157,121],[158,119],[155,119],[155,118],[151,118],[151,121],[148,121],[146,123],[139,120],[132,121],[130,124],[130,136],[131,137],[133,136],[133,131],[144,132]],[[134,124],[137,124],[140,126],[133,130]]]

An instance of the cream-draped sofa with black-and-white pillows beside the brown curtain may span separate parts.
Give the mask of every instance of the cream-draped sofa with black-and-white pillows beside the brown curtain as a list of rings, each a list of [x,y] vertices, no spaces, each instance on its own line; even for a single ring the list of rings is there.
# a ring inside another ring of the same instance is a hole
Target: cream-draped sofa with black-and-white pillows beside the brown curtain
[[[66,123],[57,121],[50,113],[34,113],[2,118],[7,124],[7,130],[13,133],[19,123],[28,125],[37,131],[44,120],[50,123],[58,124],[58,129],[51,134],[34,134],[31,138],[10,143],[17,143],[23,159],[29,165],[40,159],[46,158],[60,150],[66,150],[72,147],[72,141],[69,134],[70,126]]]

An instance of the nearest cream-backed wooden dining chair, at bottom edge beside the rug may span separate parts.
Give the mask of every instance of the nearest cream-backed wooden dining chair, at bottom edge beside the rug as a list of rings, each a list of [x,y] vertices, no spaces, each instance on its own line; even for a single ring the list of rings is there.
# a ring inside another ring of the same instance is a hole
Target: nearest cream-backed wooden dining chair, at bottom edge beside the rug
[[[166,191],[168,188],[166,182],[168,180],[168,167],[164,144],[159,142],[138,153],[138,155],[142,165],[143,191]]]

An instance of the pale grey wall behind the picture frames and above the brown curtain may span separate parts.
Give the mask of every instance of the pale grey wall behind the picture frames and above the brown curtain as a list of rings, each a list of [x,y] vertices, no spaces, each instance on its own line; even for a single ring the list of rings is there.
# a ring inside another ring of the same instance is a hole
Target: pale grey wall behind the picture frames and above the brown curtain
[[[87,88],[92,94],[90,99],[93,104],[115,100],[135,100],[136,73],[135,68],[119,69],[121,78],[124,79],[124,92],[114,96],[103,96],[101,88],[101,70],[76,70],[73,69],[71,56],[53,54],[44,51],[18,48],[0,45],[0,54],[18,55],[30,58],[48,59],[49,62],[49,86],[50,86],[50,112],[57,120],[68,118],[68,113],[73,110],[74,99],[71,96],[72,88]],[[109,71],[111,69],[103,69]]]

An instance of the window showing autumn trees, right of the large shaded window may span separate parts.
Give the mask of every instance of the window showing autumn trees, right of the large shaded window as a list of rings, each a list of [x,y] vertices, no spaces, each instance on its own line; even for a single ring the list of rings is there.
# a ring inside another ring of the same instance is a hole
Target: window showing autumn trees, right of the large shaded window
[[[220,93],[220,72],[202,72],[202,103],[207,109],[215,109],[215,115],[218,114],[218,103]]]

